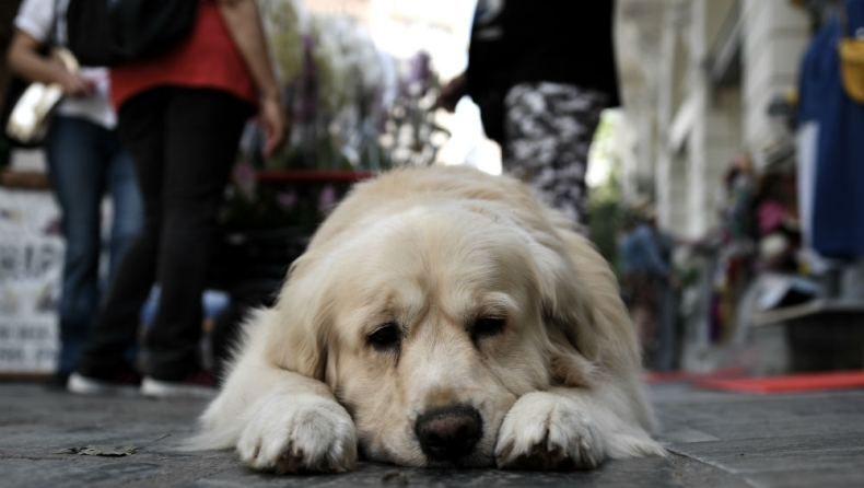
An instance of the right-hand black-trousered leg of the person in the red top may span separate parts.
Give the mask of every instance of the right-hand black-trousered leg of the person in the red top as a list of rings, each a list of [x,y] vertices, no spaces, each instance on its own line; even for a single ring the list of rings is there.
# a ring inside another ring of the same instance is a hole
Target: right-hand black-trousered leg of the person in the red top
[[[219,239],[217,214],[252,106],[224,92],[172,89],[166,108],[159,311],[145,337],[148,375],[200,370],[201,293]]]

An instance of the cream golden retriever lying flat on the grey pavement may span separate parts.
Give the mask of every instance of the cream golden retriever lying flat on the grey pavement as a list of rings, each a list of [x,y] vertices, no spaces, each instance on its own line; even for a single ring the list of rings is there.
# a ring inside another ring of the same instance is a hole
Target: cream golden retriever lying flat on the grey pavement
[[[275,473],[664,455],[606,262],[516,179],[357,185],[246,324],[196,449]]]

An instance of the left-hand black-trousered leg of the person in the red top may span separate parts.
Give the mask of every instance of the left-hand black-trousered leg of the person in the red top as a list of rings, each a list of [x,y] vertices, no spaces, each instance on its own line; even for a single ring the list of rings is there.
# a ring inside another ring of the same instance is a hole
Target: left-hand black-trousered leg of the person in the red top
[[[110,379],[124,369],[124,355],[137,339],[141,306],[156,277],[162,233],[165,90],[151,90],[126,102],[119,112],[119,130],[135,162],[143,199],[144,223],[124,253],[108,283],[78,371],[87,377]]]

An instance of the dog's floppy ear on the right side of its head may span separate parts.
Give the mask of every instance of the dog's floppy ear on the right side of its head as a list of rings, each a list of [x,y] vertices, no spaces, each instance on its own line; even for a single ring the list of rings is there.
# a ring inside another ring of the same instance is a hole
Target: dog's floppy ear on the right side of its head
[[[559,236],[562,249],[535,255],[551,376],[586,386],[597,370],[627,374],[639,348],[615,275],[587,240],[569,231]]]

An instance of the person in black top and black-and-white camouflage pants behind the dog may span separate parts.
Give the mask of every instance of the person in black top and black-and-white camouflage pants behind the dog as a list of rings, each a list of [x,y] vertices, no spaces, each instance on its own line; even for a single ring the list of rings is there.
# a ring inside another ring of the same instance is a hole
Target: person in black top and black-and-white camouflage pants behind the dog
[[[588,149],[617,106],[611,0],[479,0],[467,70],[442,90],[480,107],[502,165],[587,232]]]

